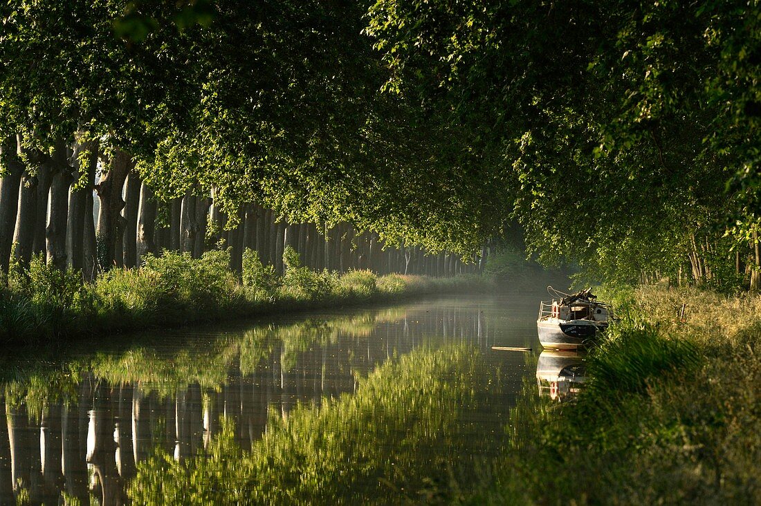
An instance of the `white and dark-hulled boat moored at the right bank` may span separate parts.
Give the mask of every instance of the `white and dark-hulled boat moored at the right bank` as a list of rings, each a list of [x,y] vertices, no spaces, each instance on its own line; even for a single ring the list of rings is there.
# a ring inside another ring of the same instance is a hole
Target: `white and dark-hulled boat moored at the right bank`
[[[591,288],[564,294],[547,288],[551,301],[542,301],[537,318],[539,342],[545,348],[575,350],[594,341],[612,318],[608,304],[597,301]]]

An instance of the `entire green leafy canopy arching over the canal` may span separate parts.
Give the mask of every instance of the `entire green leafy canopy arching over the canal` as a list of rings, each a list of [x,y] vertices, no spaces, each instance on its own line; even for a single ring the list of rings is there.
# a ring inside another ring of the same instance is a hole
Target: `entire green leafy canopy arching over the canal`
[[[757,237],[753,0],[13,0],[0,19],[3,135],[100,139],[160,199],[213,188],[232,221],[254,200],[464,255],[517,220],[543,259],[622,277]]]

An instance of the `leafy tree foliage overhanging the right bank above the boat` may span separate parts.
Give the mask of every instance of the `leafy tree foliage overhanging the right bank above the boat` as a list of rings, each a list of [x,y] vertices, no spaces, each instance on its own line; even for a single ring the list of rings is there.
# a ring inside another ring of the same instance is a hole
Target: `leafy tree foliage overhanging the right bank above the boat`
[[[757,228],[758,20],[741,1],[381,0],[366,31],[387,91],[491,132],[546,259],[694,273]]]

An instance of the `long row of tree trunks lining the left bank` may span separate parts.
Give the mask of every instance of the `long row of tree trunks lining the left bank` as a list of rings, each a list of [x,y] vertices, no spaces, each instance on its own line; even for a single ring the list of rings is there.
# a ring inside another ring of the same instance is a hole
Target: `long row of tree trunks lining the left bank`
[[[11,263],[28,266],[33,254],[44,253],[48,263],[71,266],[91,280],[114,266],[139,266],[148,253],[170,250],[198,258],[218,247],[231,249],[234,271],[240,272],[242,253],[250,248],[282,272],[287,246],[313,269],[444,276],[482,268],[483,258],[475,256],[463,263],[451,253],[386,247],[377,234],[349,223],[288,223],[255,203],[241,206],[238,226],[224,230],[228,217],[213,192],[188,191],[181,199],[157,202],[129,154],[118,149],[101,157],[103,175],[97,179],[93,145],[61,143],[53,154],[27,156],[37,161],[33,170],[21,161],[21,138],[7,138],[0,148],[7,173],[0,180],[0,267],[6,273]]]

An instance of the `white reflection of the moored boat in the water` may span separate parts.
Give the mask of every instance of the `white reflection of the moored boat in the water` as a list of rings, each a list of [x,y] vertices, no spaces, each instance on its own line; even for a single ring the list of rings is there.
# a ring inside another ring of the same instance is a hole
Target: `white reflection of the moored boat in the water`
[[[579,392],[585,380],[584,354],[544,350],[537,361],[539,394],[563,400]]]

